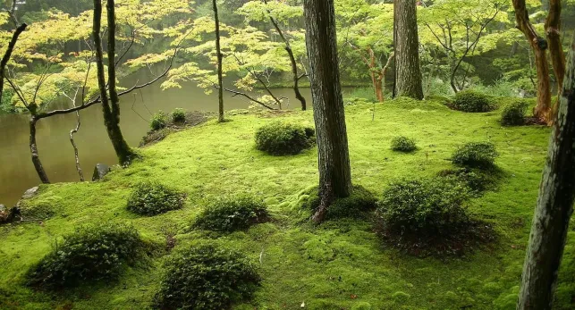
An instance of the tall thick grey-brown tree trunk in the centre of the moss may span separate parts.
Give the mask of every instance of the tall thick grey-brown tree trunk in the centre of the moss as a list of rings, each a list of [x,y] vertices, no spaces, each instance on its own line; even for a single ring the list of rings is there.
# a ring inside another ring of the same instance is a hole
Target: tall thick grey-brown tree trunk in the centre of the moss
[[[306,45],[317,133],[321,222],[332,199],[348,197],[351,168],[335,38],[334,0],[305,0]]]

